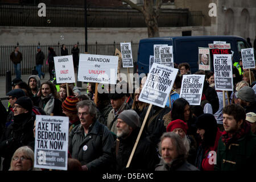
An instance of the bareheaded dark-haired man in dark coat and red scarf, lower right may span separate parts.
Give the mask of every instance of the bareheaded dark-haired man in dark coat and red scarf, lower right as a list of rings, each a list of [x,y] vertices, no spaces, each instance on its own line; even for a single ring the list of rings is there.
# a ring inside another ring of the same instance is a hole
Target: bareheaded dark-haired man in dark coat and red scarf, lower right
[[[224,132],[218,141],[216,171],[256,171],[256,136],[245,121],[245,110],[240,105],[223,109]]]

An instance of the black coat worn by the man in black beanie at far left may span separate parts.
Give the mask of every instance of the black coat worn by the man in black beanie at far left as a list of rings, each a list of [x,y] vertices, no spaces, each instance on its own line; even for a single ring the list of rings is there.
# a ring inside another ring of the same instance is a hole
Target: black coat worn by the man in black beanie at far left
[[[33,129],[34,119],[31,113],[14,116],[14,121],[5,129],[1,137],[0,155],[5,158],[3,171],[9,170],[11,157],[19,147],[26,146],[35,140]]]

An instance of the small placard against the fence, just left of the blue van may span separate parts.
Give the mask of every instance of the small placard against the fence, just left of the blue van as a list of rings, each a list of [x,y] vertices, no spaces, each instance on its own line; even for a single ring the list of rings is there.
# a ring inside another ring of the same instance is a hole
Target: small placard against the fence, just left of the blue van
[[[133,55],[131,53],[131,43],[120,43],[123,68],[133,68]]]

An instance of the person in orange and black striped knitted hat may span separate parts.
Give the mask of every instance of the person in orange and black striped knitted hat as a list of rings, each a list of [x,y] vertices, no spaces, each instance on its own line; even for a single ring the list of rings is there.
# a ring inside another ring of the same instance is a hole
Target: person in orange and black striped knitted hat
[[[61,107],[63,109],[63,113],[69,117],[69,132],[80,123],[76,109],[77,102],[79,102],[79,100],[74,96],[68,96],[65,101],[62,102]]]

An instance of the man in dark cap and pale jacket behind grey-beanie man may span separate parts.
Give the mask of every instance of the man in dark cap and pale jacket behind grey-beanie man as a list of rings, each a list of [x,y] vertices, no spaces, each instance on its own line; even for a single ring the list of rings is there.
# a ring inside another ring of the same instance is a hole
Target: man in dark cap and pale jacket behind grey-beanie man
[[[108,115],[107,126],[110,131],[114,134],[117,134],[117,117],[123,110],[131,109],[129,105],[125,102],[125,94],[117,93],[115,90],[114,93],[110,91],[109,93],[110,104],[112,105],[112,110],[110,110]]]

